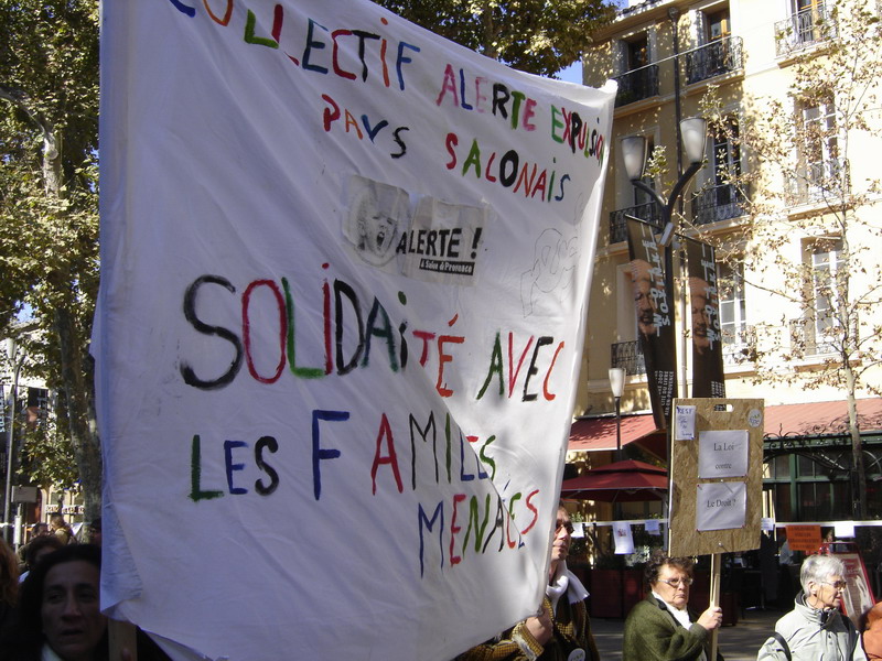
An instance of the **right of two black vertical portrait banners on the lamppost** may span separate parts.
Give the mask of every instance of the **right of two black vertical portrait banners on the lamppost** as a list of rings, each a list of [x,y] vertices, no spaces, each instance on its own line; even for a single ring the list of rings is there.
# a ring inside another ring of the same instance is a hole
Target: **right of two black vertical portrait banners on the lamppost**
[[[686,239],[692,337],[691,397],[725,397],[720,294],[713,247]]]

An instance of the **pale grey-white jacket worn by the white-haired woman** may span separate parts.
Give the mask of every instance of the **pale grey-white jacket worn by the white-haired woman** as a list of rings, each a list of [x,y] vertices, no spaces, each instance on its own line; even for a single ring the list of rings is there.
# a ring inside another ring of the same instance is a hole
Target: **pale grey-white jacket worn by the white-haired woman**
[[[775,624],[790,648],[793,661],[867,661],[861,637],[851,620],[838,610],[807,606],[805,595],[796,597],[794,609]],[[786,661],[784,648],[773,637],[763,643],[757,661]]]

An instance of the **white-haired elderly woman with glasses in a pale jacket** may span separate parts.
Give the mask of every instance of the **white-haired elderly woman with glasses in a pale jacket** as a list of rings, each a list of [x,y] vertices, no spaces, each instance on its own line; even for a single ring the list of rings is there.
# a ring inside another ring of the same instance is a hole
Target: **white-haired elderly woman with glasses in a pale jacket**
[[[799,571],[803,592],[775,624],[757,661],[867,661],[861,637],[842,616],[846,566],[832,555],[809,555]]]

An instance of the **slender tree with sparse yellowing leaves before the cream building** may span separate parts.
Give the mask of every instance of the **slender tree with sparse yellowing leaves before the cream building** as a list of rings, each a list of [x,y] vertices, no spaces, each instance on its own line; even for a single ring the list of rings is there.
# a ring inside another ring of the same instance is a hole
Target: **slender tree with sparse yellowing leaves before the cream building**
[[[867,514],[857,398],[882,394],[882,180],[865,158],[869,145],[882,144],[876,12],[869,3],[835,0],[799,34],[782,32],[781,51],[800,47],[792,53],[787,96],[746,98],[738,131],[721,110],[718,90],[704,99],[714,130],[741,149],[749,166],[718,173],[745,199],[742,230],[722,241],[703,238],[718,243],[718,254],[743,261],[749,284],[781,308],[799,311],[756,324],[749,358],[757,382],[787,380],[842,392],[857,519]],[[800,251],[790,248],[794,237],[803,239]],[[795,364],[805,367],[782,369]]]

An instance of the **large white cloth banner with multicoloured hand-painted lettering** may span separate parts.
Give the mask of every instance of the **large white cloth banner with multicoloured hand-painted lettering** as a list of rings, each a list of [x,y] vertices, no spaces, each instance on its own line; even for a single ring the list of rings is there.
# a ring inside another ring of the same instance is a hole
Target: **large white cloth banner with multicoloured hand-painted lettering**
[[[614,85],[365,1],[101,7],[103,606],[249,661],[535,613]]]

